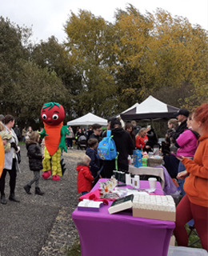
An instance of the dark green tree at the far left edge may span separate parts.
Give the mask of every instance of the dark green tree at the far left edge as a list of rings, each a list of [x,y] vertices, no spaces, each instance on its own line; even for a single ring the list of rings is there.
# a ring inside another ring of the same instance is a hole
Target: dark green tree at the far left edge
[[[10,95],[14,94],[14,81],[18,80],[19,60],[29,58],[29,52],[23,44],[29,38],[31,30],[21,28],[9,19],[0,17],[0,111],[13,110],[14,102]],[[5,104],[7,99],[7,104]]]

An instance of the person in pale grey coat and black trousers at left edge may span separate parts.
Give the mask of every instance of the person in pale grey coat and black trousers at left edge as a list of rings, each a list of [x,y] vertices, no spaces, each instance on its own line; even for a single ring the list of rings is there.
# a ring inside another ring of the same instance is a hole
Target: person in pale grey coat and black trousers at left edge
[[[14,133],[12,127],[14,126],[14,117],[10,114],[7,114],[5,118],[3,118],[2,122],[5,125],[5,129],[7,134],[12,134],[12,138],[10,139],[10,151],[5,153],[5,162],[4,169],[2,171],[2,176],[0,178],[0,192],[1,192],[1,203],[6,204],[5,198],[5,178],[7,172],[10,174],[10,197],[9,200],[13,202],[19,202],[17,198],[15,198],[14,190],[16,186],[16,177],[17,171],[19,170],[18,166],[18,158],[16,152],[18,152],[18,138]]]

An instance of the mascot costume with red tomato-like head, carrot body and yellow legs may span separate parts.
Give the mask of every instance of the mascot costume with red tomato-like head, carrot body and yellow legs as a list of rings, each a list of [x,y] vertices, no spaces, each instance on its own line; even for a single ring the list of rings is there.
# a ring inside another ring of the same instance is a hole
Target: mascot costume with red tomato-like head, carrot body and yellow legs
[[[65,134],[69,134],[68,126],[63,126],[65,111],[62,105],[49,102],[42,106],[41,118],[44,123],[41,138],[45,138],[42,178],[47,179],[52,174],[53,181],[59,181],[65,171],[63,159],[60,161],[62,150],[67,152]]]

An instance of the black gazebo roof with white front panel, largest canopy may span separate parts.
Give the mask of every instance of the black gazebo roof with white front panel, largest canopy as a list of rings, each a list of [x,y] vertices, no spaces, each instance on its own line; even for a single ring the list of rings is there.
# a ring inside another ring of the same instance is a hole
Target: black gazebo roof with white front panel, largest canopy
[[[167,105],[150,95],[138,106],[121,114],[121,117],[123,120],[175,118],[174,114],[177,111],[178,108]]]

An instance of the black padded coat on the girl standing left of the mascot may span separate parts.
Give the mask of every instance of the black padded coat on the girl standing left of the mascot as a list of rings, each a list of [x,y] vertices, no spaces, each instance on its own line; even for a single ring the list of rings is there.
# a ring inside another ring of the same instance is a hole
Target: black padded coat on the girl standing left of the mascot
[[[42,152],[38,143],[26,143],[26,149],[30,170],[42,170]]]

